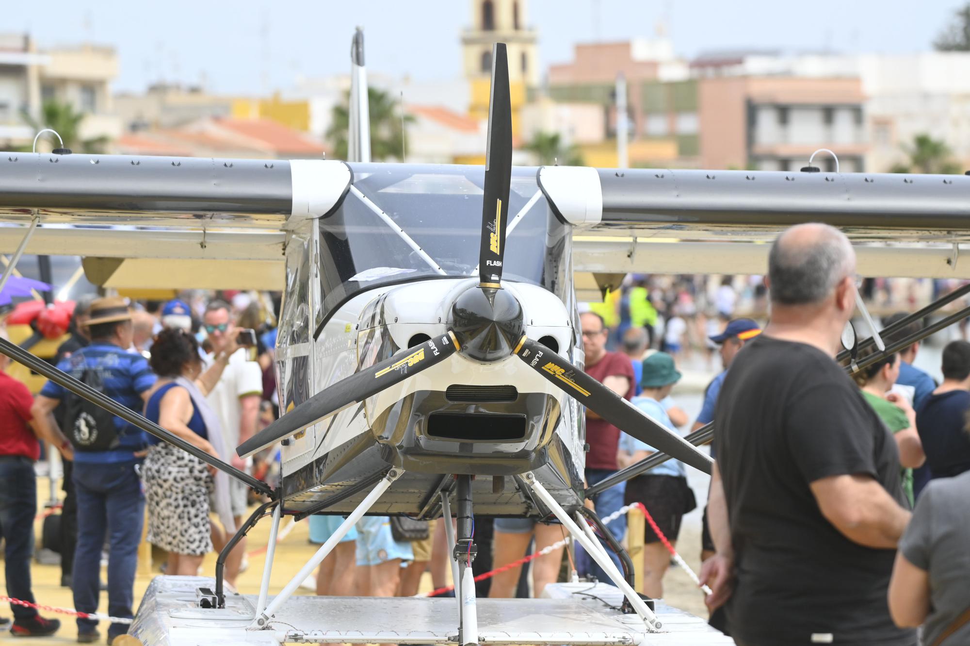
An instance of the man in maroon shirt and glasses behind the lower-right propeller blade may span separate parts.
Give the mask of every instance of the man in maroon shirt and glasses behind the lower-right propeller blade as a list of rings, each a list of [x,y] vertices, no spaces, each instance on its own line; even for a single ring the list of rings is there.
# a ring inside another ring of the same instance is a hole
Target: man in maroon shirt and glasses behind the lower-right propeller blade
[[[579,321],[583,326],[586,373],[617,395],[630,400],[635,387],[630,358],[619,352],[606,351],[606,337],[609,331],[603,325],[603,319],[599,314],[592,311],[583,312],[579,315]],[[587,410],[586,443],[589,445],[589,451],[586,454],[586,483],[592,485],[616,472],[620,429],[601,419],[592,410]],[[626,483],[618,484],[593,497],[592,500],[600,518],[608,516],[623,506],[625,485]],[[624,534],[627,533],[626,516],[621,515],[607,528],[617,540],[623,540]],[[606,553],[617,567],[621,567],[620,558],[609,547],[606,547]],[[580,574],[592,574],[600,581],[609,581],[602,568],[582,551],[579,545],[576,546],[576,568]]]

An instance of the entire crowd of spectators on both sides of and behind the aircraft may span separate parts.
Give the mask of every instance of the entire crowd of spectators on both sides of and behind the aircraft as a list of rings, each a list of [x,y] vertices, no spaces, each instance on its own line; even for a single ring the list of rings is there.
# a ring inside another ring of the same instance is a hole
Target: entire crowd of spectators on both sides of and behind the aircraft
[[[913,365],[920,343],[863,362],[850,378],[834,357],[856,307],[855,255],[824,225],[788,230],[772,245],[767,275],[741,290],[736,282],[631,276],[579,317],[587,373],[674,432],[714,422],[700,545],[712,624],[742,645],[970,642],[961,585],[970,571],[970,342],[944,348],[940,384]],[[134,307],[116,297],[81,298],[57,366],[201,451],[266,473],[265,464],[242,461],[234,449],[278,414],[275,307],[241,296]],[[770,301],[763,329],[735,316],[739,299]],[[242,335],[249,328],[255,339]],[[723,367],[693,425],[674,399],[678,365],[692,347],[719,353]],[[0,358],[0,368],[6,362]],[[14,598],[35,600],[33,465],[42,442],[60,451],[65,467],[62,584],[81,612],[95,612],[106,587],[109,613],[132,617],[146,517],[147,540],[167,555],[165,571],[196,574],[251,502],[241,483],[58,384],[32,396],[0,371],[0,536]],[[586,442],[587,485],[655,452],[591,411]],[[684,515],[698,505],[686,475],[682,463],[668,460],[589,501],[600,517],[634,502],[651,514],[656,529],[648,526],[643,536],[642,577],[653,598],[663,596],[670,564],[664,539],[676,545]],[[311,516],[310,540],[325,542],[341,522]],[[364,518],[320,566],[317,594],[411,596],[429,568],[434,586],[446,587],[444,530],[440,521]],[[622,515],[607,531],[630,540]],[[482,519],[475,567],[515,562],[564,535],[555,522]],[[227,560],[230,585],[244,553],[241,542]],[[479,594],[539,596],[560,579],[565,558],[559,549],[533,562],[531,591],[515,567],[483,582]],[[609,580],[579,546],[569,568]],[[14,634],[59,627],[31,608],[12,609]],[[97,622],[77,621],[81,643],[100,638]],[[124,630],[112,624],[109,642]]]

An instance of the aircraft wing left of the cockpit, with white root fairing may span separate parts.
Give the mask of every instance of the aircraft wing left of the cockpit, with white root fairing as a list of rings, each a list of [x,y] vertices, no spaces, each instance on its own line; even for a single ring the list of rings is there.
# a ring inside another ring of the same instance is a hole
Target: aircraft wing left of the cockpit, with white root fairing
[[[339,161],[3,153],[0,253],[36,219],[26,253],[84,256],[106,287],[279,289],[287,227],[350,178]]]

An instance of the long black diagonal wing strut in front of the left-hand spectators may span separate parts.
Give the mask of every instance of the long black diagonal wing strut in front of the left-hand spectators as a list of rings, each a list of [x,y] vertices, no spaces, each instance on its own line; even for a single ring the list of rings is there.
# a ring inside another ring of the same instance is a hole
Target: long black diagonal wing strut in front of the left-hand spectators
[[[105,410],[117,415],[126,422],[134,424],[138,428],[145,431],[148,435],[158,437],[159,439],[166,441],[173,446],[178,446],[178,448],[181,450],[195,456],[196,458],[199,458],[199,460],[202,460],[207,465],[218,468],[221,471],[225,471],[230,476],[240,480],[249,487],[252,487],[260,494],[275,498],[273,489],[265,482],[257,480],[248,473],[235,468],[228,463],[222,462],[218,458],[213,458],[209,453],[206,453],[199,447],[189,444],[187,441],[170,431],[166,431],[151,420],[139,415],[131,408],[118,404],[114,400],[102,395],[87,384],[75,379],[67,372],[57,370],[48,362],[44,361],[43,359],[39,359],[9,340],[0,338],[0,354],[5,354],[16,361],[16,363],[22,364],[39,374],[43,374],[54,383],[63,386],[81,399],[87,400],[91,404],[101,406]]]

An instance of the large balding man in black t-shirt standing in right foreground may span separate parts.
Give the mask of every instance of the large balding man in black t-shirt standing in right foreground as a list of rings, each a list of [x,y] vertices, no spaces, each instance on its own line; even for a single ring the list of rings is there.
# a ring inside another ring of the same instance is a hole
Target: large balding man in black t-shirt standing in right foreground
[[[887,589],[909,521],[895,442],[834,361],[856,307],[839,231],[792,227],[769,254],[771,323],[739,353],[715,410],[701,578],[741,646],[917,643]]]

